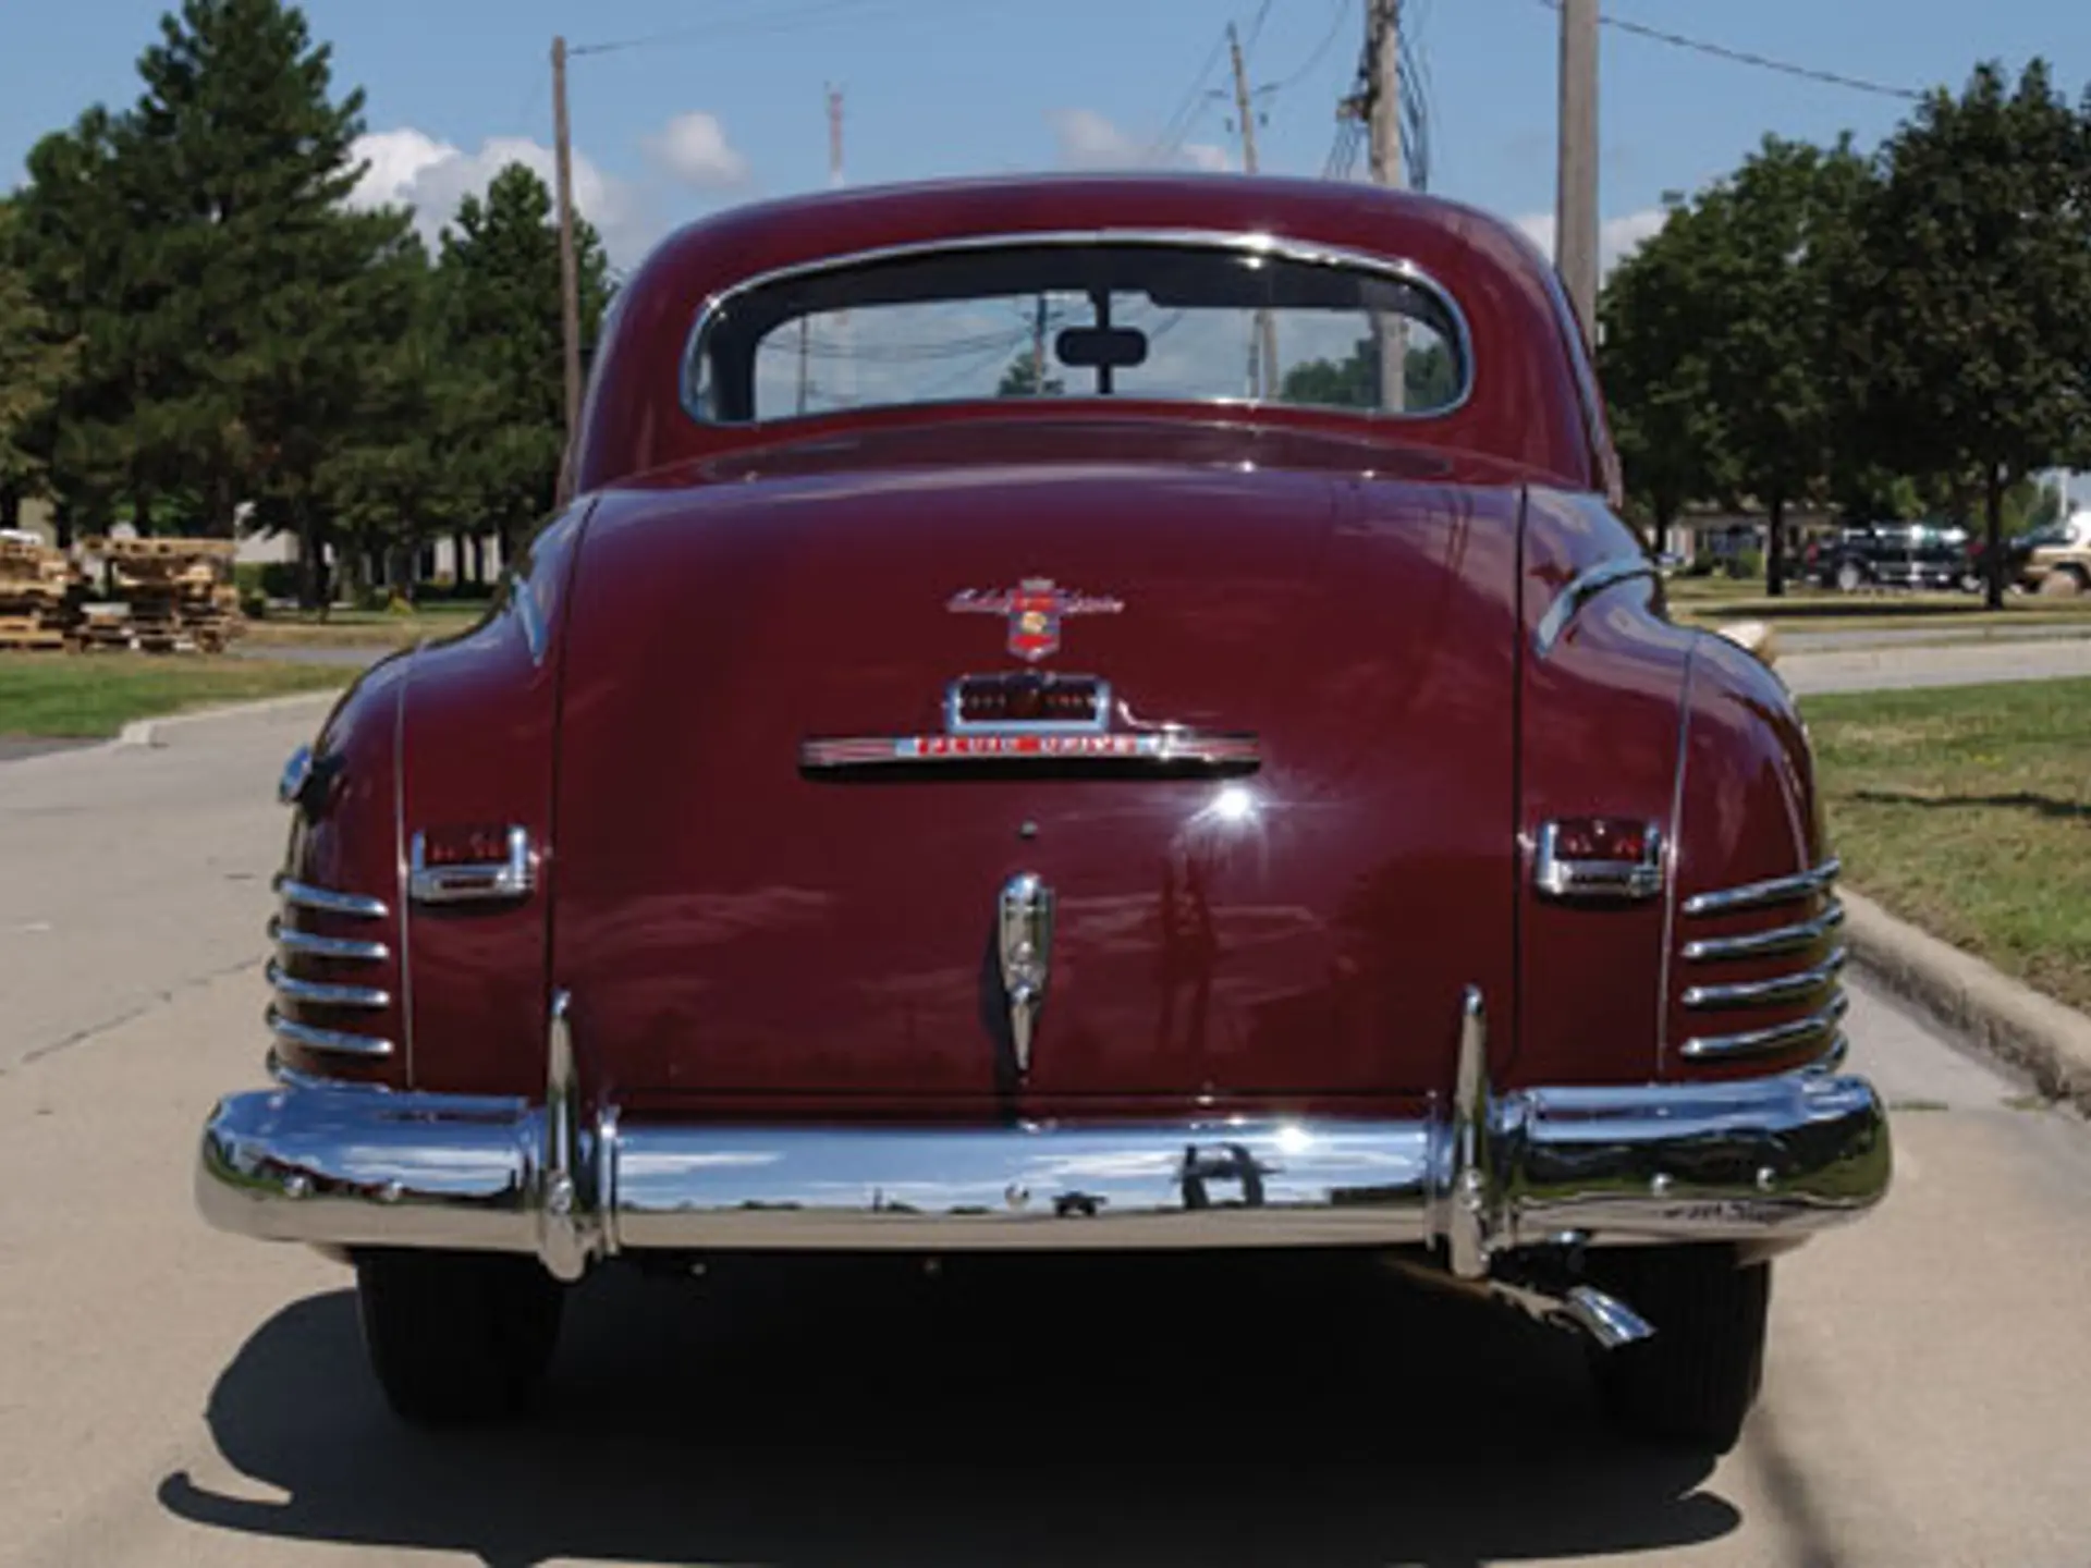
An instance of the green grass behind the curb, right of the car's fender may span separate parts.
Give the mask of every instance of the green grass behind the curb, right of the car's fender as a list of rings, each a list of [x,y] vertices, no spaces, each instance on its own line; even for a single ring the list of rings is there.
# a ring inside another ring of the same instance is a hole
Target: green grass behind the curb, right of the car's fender
[[[1800,707],[1853,886],[2091,1010],[2091,679]]]

